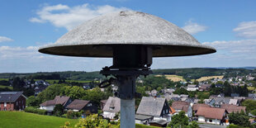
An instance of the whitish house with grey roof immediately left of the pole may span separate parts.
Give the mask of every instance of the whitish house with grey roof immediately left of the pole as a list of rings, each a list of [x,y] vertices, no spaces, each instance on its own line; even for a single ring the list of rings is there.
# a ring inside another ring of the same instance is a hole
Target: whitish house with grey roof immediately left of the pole
[[[108,97],[105,106],[103,107],[103,117],[108,119],[114,119],[116,113],[120,111],[121,100],[119,97]]]

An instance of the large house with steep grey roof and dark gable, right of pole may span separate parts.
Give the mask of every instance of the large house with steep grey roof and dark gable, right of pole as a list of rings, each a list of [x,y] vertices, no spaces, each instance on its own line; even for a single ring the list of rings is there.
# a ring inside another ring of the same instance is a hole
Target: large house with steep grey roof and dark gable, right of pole
[[[171,121],[170,107],[165,98],[162,97],[142,97],[138,110],[136,111],[137,116],[151,116],[145,121],[145,118],[136,118],[135,122],[139,124],[145,123],[158,123],[167,124]],[[153,119],[153,120],[152,120]],[[146,124],[147,125],[147,124]]]

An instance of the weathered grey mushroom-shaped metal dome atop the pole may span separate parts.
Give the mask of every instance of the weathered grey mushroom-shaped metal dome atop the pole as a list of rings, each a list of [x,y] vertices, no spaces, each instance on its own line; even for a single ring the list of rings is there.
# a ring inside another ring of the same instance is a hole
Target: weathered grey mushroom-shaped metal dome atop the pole
[[[183,29],[144,12],[115,12],[84,22],[40,48],[51,55],[112,57],[112,45],[149,45],[154,57],[204,55],[215,53],[201,45]],[[129,54],[129,53],[127,53]]]

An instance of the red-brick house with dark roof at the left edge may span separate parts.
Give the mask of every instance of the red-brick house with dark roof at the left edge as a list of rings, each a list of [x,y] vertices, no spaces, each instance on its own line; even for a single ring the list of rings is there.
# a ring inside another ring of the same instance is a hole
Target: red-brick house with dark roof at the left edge
[[[0,111],[20,111],[26,107],[23,92],[0,92]]]

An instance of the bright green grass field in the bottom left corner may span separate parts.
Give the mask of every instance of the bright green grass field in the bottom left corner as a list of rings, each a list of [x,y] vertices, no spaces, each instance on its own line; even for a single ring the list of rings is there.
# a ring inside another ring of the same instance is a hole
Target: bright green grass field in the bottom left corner
[[[0,111],[0,128],[59,128],[69,121],[71,126],[78,120],[56,116],[42,116],[22,111]]]

